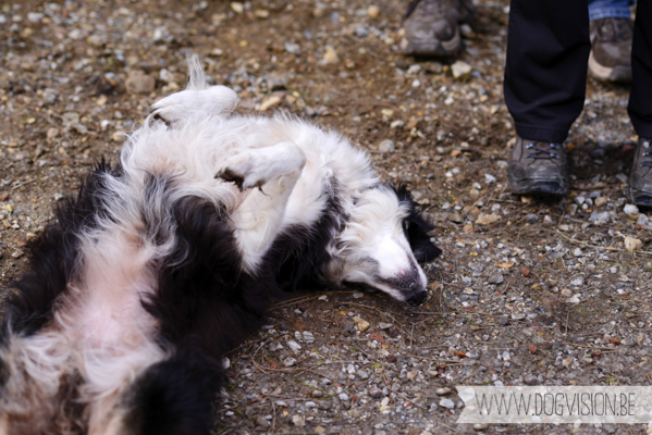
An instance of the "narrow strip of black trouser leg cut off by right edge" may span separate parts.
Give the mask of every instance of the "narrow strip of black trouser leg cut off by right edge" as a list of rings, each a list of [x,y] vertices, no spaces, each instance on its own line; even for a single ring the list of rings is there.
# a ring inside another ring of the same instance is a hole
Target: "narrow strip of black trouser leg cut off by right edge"
[[[649,0],[637,3],[628,112],[636,133],[652,138],[652,4]]]

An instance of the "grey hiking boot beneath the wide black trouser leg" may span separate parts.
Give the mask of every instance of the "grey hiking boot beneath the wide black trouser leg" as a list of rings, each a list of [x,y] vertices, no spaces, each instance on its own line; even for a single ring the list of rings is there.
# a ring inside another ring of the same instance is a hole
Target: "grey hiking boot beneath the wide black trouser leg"
[[[568,194],[566,151],[562,144],[516,138],[509,160],[509,190],[515,194]]]

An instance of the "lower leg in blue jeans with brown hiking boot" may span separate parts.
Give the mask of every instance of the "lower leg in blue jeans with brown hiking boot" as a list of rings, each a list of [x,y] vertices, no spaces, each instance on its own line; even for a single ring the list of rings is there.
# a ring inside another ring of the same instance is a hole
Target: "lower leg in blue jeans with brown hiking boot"
[[[591,54],[589,73],[606,82],[631,82],[633,0],[589,0]]]

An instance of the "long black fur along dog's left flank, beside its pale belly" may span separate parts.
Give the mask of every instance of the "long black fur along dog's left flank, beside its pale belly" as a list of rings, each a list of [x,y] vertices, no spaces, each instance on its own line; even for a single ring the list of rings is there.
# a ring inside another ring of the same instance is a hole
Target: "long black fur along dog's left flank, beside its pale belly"
[[[54,210],[54,220],[42,235],[28,243],[29,266],[26,274],[10,286],[7,322],[0,343],[10,326],[14,333],[32,335],[52,318],[57,297],[76,277],[79,258],[78,235],[97,224],[106,213],[106,176],[120,176],[120,167],[111,169],[103,160],[82,183],[77,198],[67,198]],[[14,291],[11,289],[13,288]]]

